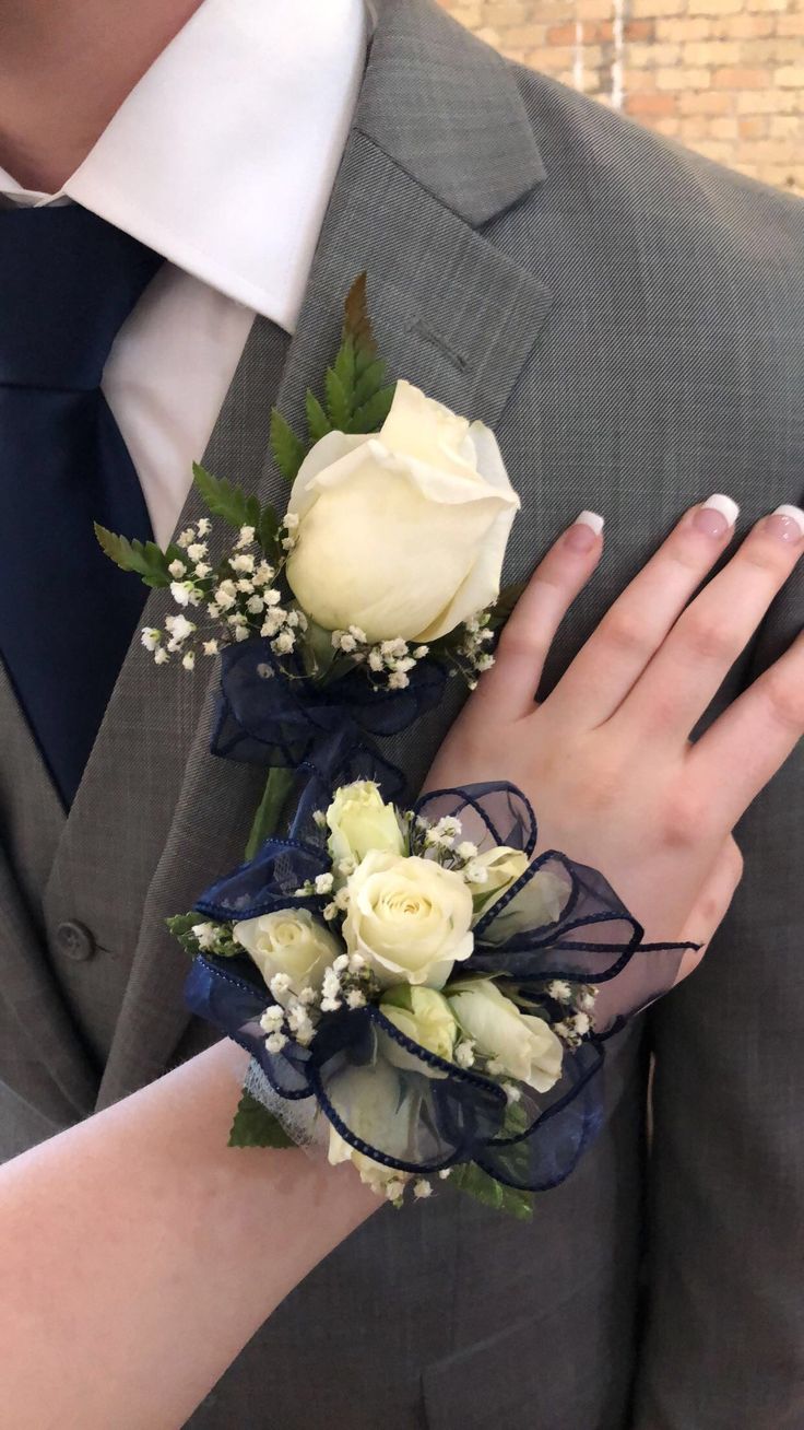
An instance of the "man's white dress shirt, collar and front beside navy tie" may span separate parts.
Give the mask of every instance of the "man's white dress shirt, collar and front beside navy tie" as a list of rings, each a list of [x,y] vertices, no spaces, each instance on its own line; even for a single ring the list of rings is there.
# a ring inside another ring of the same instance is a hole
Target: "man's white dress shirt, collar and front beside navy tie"
[[[204,0],[57,194],[0,169],[11,202],[81,203],[167,259],[103,375],[161,545],[254,313],[294,330],[368,23],[363,0]]]

